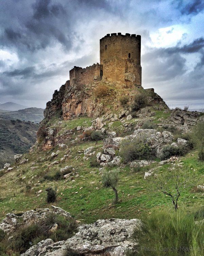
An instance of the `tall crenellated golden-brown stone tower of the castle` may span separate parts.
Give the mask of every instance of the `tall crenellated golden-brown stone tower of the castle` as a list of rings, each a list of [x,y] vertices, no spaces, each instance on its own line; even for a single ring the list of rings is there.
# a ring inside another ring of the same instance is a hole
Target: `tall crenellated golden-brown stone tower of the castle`
[[[100,64],[103,79],[121,81],[127,88],[141,86],[141,36],[107,34],[100,39]]]

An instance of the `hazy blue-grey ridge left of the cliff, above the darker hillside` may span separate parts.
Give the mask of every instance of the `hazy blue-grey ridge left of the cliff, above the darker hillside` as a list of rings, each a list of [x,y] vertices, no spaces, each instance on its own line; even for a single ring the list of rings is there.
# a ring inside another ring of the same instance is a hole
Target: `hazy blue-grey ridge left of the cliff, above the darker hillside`
[[[0,105],[1,106],[1,105]],[[31,121],[34,123],[39,123],[44,118],[44,109],[43,108],[26,108],[20,109],[18,111],[1,111],[0,110],[0,119],[4,120],[22,120],[22,121]]]

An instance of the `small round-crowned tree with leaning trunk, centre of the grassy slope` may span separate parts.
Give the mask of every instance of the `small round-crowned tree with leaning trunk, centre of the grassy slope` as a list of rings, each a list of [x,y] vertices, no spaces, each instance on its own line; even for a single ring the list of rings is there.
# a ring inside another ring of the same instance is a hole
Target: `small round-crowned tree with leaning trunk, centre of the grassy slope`
[[[119,175],[117,170],[105,171],[104,174],[102,175],[102,180],[101,180],[104,187],[112,187],[116,196],[115,203],[118,202],[118,191],[116,189],[118,180],[119,180]]]

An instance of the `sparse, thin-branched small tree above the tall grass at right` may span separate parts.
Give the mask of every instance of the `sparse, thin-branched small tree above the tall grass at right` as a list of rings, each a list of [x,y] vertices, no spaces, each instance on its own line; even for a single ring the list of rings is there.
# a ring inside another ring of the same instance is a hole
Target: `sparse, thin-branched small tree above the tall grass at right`
[[[148,180],[154,190],[171,198],[173,207],[177,210],[181,193],[193,185],[193,173],[176,164],[168,171],[152,174]]]

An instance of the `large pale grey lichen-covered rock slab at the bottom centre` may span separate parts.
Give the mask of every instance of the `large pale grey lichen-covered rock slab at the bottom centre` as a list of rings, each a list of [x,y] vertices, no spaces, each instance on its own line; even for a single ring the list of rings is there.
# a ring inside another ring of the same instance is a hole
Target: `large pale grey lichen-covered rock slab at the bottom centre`
[[[82,256],[124,256],[126,250],[137,245],[131,236],[140,220],[98,220],[93,224],[84,224],[78,232],[66,241],[54,243],[51,239],[32,246],[21,256],[64,256],[70,250],[72,255]]]

